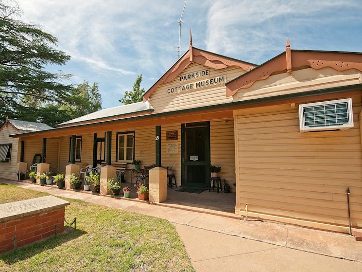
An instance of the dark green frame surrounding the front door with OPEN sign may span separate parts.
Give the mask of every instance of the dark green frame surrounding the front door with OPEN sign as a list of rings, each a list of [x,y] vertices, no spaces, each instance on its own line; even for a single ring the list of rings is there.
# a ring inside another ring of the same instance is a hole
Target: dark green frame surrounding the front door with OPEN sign
[[[206,129],[206,148],[205,148],[205,158],[206,158],[206,173],[205,173],[205,183],[188,183],[186,181],[186,124],[181,124],[181,186],[182,187],[205,187],[207,188],[207,182],[210,179],[210,163],[211,163],[211,155],[210,155],[210,121],[205,122],[196,122],[196,123],[205,123]],[[192,123],[188,123],[192,124]]]

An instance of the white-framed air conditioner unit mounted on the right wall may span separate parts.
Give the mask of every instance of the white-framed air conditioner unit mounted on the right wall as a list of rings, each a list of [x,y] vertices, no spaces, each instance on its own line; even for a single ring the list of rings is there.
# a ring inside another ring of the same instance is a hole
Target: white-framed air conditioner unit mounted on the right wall
[[[299,105],[300,132],[345,130],[353,127],[352,99]]]

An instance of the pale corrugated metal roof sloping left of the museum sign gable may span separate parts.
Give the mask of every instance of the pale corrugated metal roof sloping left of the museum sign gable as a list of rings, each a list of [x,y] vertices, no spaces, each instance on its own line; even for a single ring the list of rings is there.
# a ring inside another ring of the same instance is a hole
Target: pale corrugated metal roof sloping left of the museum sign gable
[[[107,108],[107,109],[101,109],[86,115],[83,115],[81,117],[69,120],[67,122],[63,122],[61,124],[58,124],[57,126],[63,126],[63,125],[69,125],[79,122],[85,122],[90,120],[98,120],[103,119],[107,117],[113,117],[113,116],[119,116],[119,115],[125,115],[130,113],[137,113],[141,111],[151,110],[150,109],[150,102],[137,102],[133,104],[127,104],[122,105],[118,107],[113,108]]]

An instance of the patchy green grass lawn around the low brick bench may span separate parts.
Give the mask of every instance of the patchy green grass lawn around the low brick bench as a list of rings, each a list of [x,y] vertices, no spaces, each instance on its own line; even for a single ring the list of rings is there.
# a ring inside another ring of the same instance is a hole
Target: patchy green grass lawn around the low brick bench
[[[47,194],[0,183],[0,203]],[[66,199],[77,231],[0,255],[0,271],[194,271],[167,220]]]

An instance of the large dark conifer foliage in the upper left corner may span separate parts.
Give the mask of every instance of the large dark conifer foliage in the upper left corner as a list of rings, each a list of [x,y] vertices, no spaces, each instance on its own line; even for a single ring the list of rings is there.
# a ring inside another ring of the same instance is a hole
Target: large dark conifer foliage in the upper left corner
[[[19,110],[26,112],[26,109],[34,109],[34,105],[40,102],[63,101],[69,94],[72,85],[61,82],[69,78],[69,74],[44,70],[47,65],[64,65],[70,60],[65,52],[55,49],[57,42],[56,37],[42,31],[39,26],[23,22],[15,1],[0,2],[2,115],[14,118]],[[24,97],[28,97],[29,103],[19,106]]]

